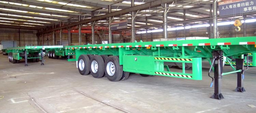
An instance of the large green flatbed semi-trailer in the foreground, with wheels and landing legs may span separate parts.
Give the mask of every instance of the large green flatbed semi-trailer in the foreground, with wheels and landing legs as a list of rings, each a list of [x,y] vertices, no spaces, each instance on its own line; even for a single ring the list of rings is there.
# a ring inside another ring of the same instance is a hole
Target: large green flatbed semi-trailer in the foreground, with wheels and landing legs
[[[95,78],[106,76],[110,81],[125,80],[129,72],[142,76],[166,76],[202,80],[202,59],[208,59],[214,68],[214,94],[212,98],[222,99],[221,79],[224,75],[237,73],[236,91],[244,92],[244,57],[256,52],[256,37],[215,38],[184,41],[135,42],[67,46],[66,55],[76,55],[76,66],[81,75]],[[223,72],[223,61],[232,56],[236,59],[234,71]],[[165,62],[182,63],[182,72],[175,72]],[[213,62],[213,63],[212,63]],[[192,73],[185,71],[185,64],[192,65]],[[248,68],[248,67],[247,67]]]

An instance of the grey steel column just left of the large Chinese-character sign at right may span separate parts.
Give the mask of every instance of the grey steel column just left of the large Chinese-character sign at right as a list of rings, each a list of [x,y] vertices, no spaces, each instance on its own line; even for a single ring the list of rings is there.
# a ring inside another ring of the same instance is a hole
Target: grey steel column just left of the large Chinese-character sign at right
[[[217,1],[213,0],[213,38],[218,38],[218,26],[217,26]]]

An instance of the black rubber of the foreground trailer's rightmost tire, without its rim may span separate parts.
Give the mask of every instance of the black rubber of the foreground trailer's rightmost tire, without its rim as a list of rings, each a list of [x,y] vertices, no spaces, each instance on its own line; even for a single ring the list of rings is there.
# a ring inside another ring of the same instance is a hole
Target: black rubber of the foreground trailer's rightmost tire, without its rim
[[[115,66],[115,74],[113,76],[110,76],[108,74],[108,72],[106,71],[106,67],[107,67],[108,62],[113,62],[114,66]],[[123,76],[123,65],[119,65],[119,58],[117,56],[108,57],[108,59],[105,62],[104,67],[105,67],[104,70],[105,70],[105,73],[106,73],[106,77],[110,81],[112,81],[112,82],[119,81],[122,78],[122,76]]]

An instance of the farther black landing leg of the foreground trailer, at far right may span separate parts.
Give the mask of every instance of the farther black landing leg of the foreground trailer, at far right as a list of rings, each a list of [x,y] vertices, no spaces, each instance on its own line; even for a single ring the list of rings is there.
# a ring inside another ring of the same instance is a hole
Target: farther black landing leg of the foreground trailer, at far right
[[[244,71],[244,59],[236,59],[236,68],[237,70],[241,69]],[[243,81],[243,72],[237,72],[237,88],[235,89],[236,92],[245,92]]]

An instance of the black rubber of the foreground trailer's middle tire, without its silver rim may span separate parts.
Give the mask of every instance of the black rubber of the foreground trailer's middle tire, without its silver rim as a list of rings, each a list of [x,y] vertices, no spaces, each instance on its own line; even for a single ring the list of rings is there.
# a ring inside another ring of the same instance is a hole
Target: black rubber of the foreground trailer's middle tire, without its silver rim
[[[94,73],[91,69],[91,63],[93,61],[96,61],[98,63],[98,71],[96,73]],[[101,78],[104,75],[104,60],[100,55],[94,55],[91,59],[90,59],[90,74],[94,77],[94,78]]]

